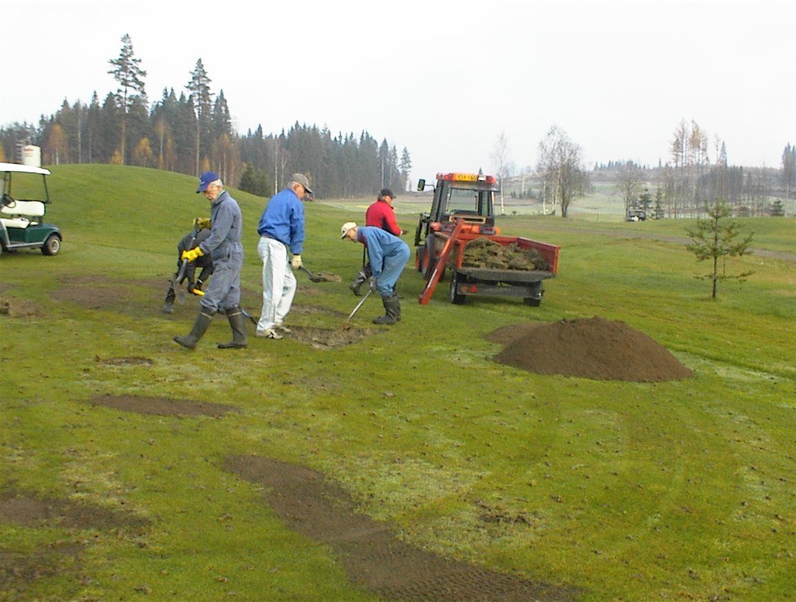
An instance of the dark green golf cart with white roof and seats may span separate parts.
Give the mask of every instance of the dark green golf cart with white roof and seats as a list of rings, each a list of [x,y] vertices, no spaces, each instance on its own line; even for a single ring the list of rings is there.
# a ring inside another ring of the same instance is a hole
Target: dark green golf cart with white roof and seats
[[[47,212],[49,171],[33,165],[0,163],[0,253],[41,249],[45,255],[60,251],[60,228],[42,219]]]

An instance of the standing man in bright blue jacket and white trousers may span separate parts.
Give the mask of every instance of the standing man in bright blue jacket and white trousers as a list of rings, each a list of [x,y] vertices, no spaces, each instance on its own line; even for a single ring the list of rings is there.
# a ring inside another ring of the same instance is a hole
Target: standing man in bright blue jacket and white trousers
[[[312,194],[310,181],[303,173],[294,173],[287,188],[271,196],[259,218],[257,254],[263,260],[263,310],[259,314],[256,336],[279,340],[291,332],[284,321],[296,293],[293,270],[302,265],[302,199],[308,194]]]

